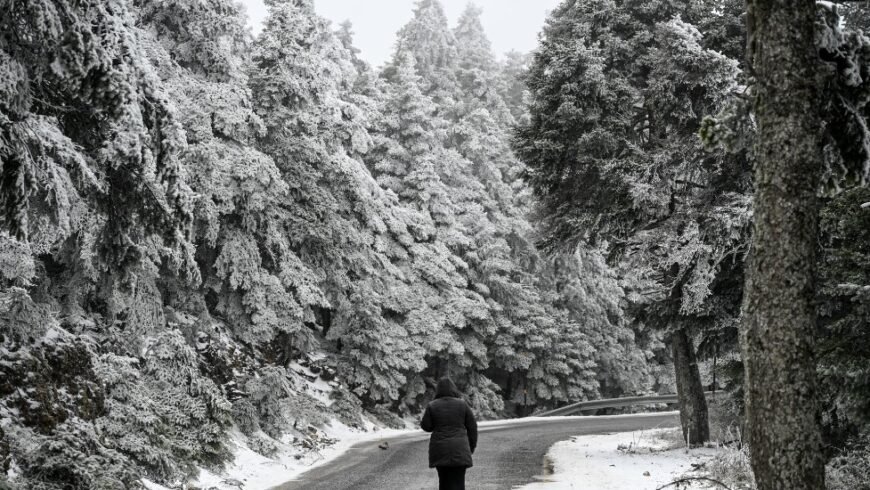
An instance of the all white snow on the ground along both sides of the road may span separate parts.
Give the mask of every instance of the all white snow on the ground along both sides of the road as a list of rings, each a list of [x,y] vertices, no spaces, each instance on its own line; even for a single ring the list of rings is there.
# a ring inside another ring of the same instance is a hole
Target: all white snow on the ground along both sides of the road
[[[676,413],[676,412],[674,412]],[[634,414],[659,416],[661,413]],[[598,416],[596,418],[620,418],[624,415]],[[573,416],[547,417],[546,420],[574,419]],[[481,422],[479,426],[499,427],[527,423],[536,418],[494,420]],[[366,421],[364,430],[354,429],[339,422],[322,429],[325,437],[336,442],[319,450],[304,450],[284,440],[274,458],[255,453],[242,442],[240,433],[232,435],[231,446],[234,461],[215,474],[202,470],[197,487],[218,490],[266,490],[292,480],[314,467],[327,464],[341,456],[354,444],[393,437],[419,431],[385,429]],[[545,481],[522,487],[522,490],[655,490],[692,470],[692,463],[712,458],[716,449],[699,448],[687,451],[674,448],[679,429],[652,429],[607,435],[577,436],[553,445],[547,453],[553,474]],[[670,436],[663,439],[663,436]],[[671,448],[671,449],[669,449]],[[298,459],[297,459],[298,458]],[[644,472],[649,472],[645,476]],[[169,490],[166,487],[143,480],[148,490]],[[685,488],[685,487],[683,487]],[[696,486],[693,488],[705,488]],[[519,490],[519,489],[518,489]]]

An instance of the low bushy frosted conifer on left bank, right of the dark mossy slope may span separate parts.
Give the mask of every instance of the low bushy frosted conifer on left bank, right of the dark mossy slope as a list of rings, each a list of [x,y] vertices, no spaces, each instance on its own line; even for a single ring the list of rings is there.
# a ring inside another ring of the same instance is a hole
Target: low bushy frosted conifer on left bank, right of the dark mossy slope
[[[142,349],[139,358],[108,353],[96,363],[106,413],[94,425],[104,444],[160,481],[229,460],[231,404],[203,376],[196,350],[177,329],[149,337]]]

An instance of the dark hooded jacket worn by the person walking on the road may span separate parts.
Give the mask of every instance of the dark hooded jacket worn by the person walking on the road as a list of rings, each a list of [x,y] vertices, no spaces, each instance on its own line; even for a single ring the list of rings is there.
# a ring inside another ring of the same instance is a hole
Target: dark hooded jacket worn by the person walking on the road
[[[477,447],[477,422],[448,378],[438,382],[435,400],[426,407],[420,427],[431,432],[429,467],[470,468]]]

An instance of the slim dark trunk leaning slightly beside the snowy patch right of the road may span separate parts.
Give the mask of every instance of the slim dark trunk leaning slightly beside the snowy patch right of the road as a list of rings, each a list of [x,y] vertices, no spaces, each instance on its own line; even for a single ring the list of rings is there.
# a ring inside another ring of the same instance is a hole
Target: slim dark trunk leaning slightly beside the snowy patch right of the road
[[[707,399],[704,398],[695,347],[685,329],[681,328],[671,336],[671,351],[674,356],[683,439],[692,446],[703,444],[710,439]]]

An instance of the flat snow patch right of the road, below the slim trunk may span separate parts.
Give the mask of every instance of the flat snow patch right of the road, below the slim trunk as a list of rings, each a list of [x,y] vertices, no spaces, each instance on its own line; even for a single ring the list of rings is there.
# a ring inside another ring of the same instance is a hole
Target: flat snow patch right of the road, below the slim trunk
[[[655,490],[683,476],[704,476],[692,464],[712,459],[719,449],[677,447],[679,439],[679,429],[572,437],[547,453],[552,474],[517,490]],[[695,482],[679,488],[712,487]]]

